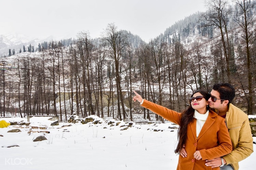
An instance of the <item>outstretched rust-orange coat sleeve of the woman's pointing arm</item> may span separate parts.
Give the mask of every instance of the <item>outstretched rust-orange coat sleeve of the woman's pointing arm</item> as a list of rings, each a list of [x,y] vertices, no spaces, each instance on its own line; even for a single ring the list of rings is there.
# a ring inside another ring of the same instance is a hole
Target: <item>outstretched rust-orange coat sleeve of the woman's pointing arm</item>
[[[162,116],[166,120],[169,120],[173,123],[176,123],[176,124],[180,125],[181,113],[178,113],[176,111],[173,111],[171,109],[168,109],[166,107],[158,105],[156,103],[147,101],[145,99],[144,99],[141,106],[149,109],[150,111],[156,113],[159,116]]]

